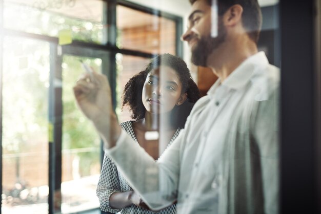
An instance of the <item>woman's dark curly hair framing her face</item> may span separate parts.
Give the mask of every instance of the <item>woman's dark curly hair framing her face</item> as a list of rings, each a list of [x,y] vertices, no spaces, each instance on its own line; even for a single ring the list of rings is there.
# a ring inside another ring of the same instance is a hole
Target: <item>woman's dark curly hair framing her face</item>
[[[172,124],[176,128],[183,128],[193,104],[199,99],[200,93],[196,83],[193,81],[185,61],[171,54],[162,54],[153,58],[144,71],[139,72],[129,79],[123,92],[123,105],[128,105],[134,120],[145,117],[146,109],[142,101],[143,87],[146,77],[150,71],[160,65],[167,66],[176,71],[182,83],[182,94],[187,94],[187,101],[182,105],[175,106],[171,112]]]

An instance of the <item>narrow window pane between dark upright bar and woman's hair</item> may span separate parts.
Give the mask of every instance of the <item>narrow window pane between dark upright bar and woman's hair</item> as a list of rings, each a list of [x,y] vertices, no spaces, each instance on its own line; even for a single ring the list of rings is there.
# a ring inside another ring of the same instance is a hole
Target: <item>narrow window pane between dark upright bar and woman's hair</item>
[[[118,115],[119,122],[125,122],[131,120],[131,113],[128,106],[124,106],[122,109],[122,95],[125,88],[125,84],[135,74],[143,71],[148,63],[149,58],[129,56],[123,54],[116,54],[116,68],[117,68],[117,88],[116,88],[116,98],[117,106],[116,113]]]

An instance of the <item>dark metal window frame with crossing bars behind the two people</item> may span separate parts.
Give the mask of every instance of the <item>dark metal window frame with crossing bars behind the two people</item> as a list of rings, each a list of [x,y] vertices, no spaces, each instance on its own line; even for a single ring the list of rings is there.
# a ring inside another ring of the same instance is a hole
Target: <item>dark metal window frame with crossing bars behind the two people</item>
[[[104,11],[106,11],[106,17],[104,18],[104,24],[107,24],[108,29],[105,35],[103,44],[93,44],[83,41],[73,41],[72,44],[62,46],[61,52],[58,54],[58,38],[37,35],[32,33],[26,33],[16,30],[3,28],[3,15],[0,15],[0,165],[2,166],[2,54],[3,54],[3,36],[18,36],[24,38],[31,38],[35,40],[48,41],[50,43],[50,89],[49,89],[49,122],[53,127],[49,139],[53,139],[53,142],[49,142],[49,214],[59,212],[60,207],[54,207],[56,204],[57,196],[61,196],[61,181],[62,181],[62,88],[54,86],[54,79],[62,80],[61,63],[63,60],[63,54],[72,54],[78,56],[87,56],[86,50],[94,50],[95,54],[90,54],[90,57],[100,57],[103,59],[103,72],[108,76],[111,84],[112,97],[114,108],[116,105],[116,65],[115,54],[122,53],[126,55],[139,56],[145,58],[154,57],[153,54],[134,51],[128,49],[118,49],[115,45],[116,40],[116,5],[123,5],[135,10],[139,10],[146,13],[151,13],[157,16],[162,16],[175,21],[176,23],[176,55],[183,57],[183,44],[179,40],[182,34],[183,19],[181,17],[171,15],[169,13],[161,12],[159,10],[150,9],[140,5],[136,5],[124,0],[102,0],[105,2]],[[3,14],[3,0],[0,0],[0,12]],[[102,146],[102,160],[103,160],[103,146]],[[1,167],[2,168],[2,167]],[[2,170],[0,170],[0,183],[2,184]],[[2,185],[0,187],[2,192]],[[0,205],[1,206],[1,205]],[[56,210],[55,210],[56,209]],[[1,208],[0,208],[1,213]]]

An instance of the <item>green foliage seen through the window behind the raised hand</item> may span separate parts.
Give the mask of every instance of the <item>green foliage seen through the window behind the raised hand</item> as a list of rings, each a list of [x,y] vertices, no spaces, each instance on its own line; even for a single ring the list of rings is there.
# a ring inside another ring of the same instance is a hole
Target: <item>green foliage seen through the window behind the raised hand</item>
[[[90,175],[90,166],[99,163],[100,138],[92,123],[78,110],[72,87],[83,72],[79,59],[98,70],[101,60],[65,55],[63,59],[63,149],[72,153],[76,148],[93,148],[92,152],[77,153],[81,172]],[[89,149],[90,150],[90,149]],[[91,151],[91,150],[90,150]],[[88,174],[89,173],[89,174]]]

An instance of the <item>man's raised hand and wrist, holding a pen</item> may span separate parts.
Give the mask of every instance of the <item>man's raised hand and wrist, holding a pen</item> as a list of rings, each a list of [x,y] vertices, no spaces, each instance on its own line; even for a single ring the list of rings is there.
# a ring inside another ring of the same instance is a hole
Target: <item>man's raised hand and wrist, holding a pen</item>
[[[121,127],[113,112],[111,90],[105,75],[92,73],[79,78],[73,88],[79,109],[95,125],[107,148],[115,145]]]

